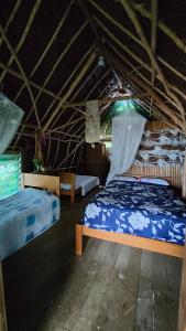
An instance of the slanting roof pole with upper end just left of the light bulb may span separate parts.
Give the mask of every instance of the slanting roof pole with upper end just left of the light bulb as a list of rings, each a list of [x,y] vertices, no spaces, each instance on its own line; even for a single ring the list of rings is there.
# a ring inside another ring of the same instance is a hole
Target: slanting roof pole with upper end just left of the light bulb
[[[88,71],[88,68],[91,66],[91,64],[95,62],[96,60],[96,54],[92,53],[88,61],[86,62],[86,64],[84,65],[84,67],[81,68],[79,75],[76,77],[76,79],[72,83],[69,89],[67,90],[67,93],[65,94],[65,96],[63,97],[63,99],[59,102],[59,104],[57,105],[56,109],[53,111],[53,114],[51,115],[50,119],[47,120],[47,122],[44,126],[44,130],[46,130],[48,128],[48,126],[51,125],[51,122],[53,121],[53,119],[56,117],[58,110],[61,109],[62,105],[64,104],[64,102],[70,96],[70,94],[73,93],[73,90],[76,88],[76,86],[79,84],[79,82],[81,81],[81,78],[84,77],[84,75],[86,74],[86,72]]]

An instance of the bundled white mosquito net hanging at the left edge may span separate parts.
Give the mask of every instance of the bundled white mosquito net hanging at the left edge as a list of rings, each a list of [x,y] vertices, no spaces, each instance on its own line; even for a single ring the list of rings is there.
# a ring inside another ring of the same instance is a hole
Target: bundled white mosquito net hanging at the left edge
[[[9,147],[23,117],[23,110],[0,93],[0,154]]]

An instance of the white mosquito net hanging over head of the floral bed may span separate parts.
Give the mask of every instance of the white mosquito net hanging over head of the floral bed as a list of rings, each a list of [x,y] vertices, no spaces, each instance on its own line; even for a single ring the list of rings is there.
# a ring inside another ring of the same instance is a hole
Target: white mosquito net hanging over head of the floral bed
[[[127,172],[135,156],[144,131],[145,118],[128,109],[112,119],[111,166],[107,183],[114,174]]]

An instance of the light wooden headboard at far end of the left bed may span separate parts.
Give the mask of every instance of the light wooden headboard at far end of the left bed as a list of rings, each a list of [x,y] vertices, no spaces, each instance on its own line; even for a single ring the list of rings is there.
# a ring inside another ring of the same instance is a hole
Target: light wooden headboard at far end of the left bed
[[[54,192],[59,196],[59,177],[39,174],[39,173],[23,173],[22,174],[22,186],[46,189]]]

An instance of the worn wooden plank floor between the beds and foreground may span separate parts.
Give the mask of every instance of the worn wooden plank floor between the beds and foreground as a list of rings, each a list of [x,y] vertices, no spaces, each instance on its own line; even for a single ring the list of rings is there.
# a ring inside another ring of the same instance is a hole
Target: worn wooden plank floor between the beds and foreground
[[[97,239],[74,255],[88,199],[3,261],[9,331],[176,331],[179,259]]]

